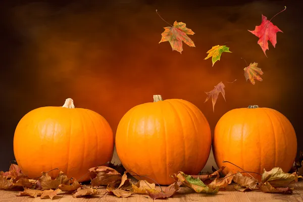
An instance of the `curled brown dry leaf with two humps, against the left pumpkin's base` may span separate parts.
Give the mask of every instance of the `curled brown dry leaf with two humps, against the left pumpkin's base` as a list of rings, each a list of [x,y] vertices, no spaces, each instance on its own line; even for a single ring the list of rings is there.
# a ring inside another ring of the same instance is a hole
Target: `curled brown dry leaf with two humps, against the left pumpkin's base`
[[[45,189],[56,189],[60,184],[70,184],[70,179],[60,171],[56,179],[52,179],[47,173],[42,173],[42,176],[38,179],[36,188],[45,190]]]

